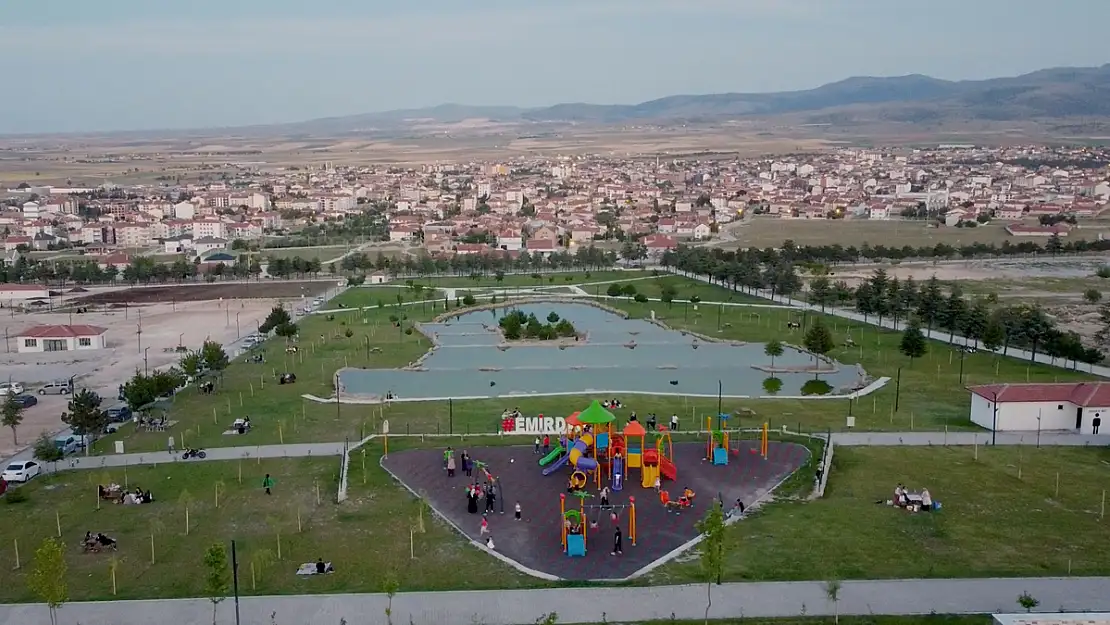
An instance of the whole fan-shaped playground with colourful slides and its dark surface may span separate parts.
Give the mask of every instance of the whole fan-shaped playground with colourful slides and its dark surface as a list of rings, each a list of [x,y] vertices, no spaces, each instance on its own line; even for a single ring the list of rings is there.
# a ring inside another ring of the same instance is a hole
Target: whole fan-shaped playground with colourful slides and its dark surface
[[[720,497],[726,510],[737,500],[748,505],[809,455],[803,445],[748,434],[724,447],[727,463],[714,464],[706,452],[713,456],[709,445],[724,441],[676,443],[665,429],[618,425],[596,402],[565,421],[569,436],[549,434],[546,454],[526,437],[521,446],[451,450],[450,465],[444,450],[401,451],[382,465],[468,538],[486,548],[492,538],[494,551],[529,569],[582,581],[635,574],[696,537],[713,500]],[[485,515],[484,505],[468,505],[475,483],[495,494]]]

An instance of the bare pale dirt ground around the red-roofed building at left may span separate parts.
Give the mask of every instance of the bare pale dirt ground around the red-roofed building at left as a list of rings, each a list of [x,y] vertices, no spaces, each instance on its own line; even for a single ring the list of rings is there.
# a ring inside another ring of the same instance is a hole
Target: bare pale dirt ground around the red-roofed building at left
[[[68,312],[16,314],[0,316],[4,332],[0,353],[0,380],[22,382],[28,392],[51,380],[77,376],[78,389],[95,391],[104,406],[115,402],[119,385],[137,370],[158,369],[176,363],[173,350],[181,344],[195,349],[205,340],[229,343],[255,330],[276,303],[286,306],[306,295],[321,293],[332,282],[272,282],[258,284],[219,284],[139,289],[103,289],[81,298],[82,302],[117,304],[93,306],[91,312],[71,315]],[[233,299],[251,298],[251,299]],[[220,300],[224,296],[223,300]],[[274,298],[284,298],[284,301]],[[173,301],[175,300],[175,301]],[[122,305],[123,302],[128,306]],[[18,353],[13,337],[39,324],[80,323],[108,329],[107,350],[42,354]],[[141,333],[140,333],[141,329]],[[19,445],[10,431],[0,433],[0,458],[11,456],[33,443],[42,432],[54,433],[64,427],[60,415],[68,399],[60,395],[37,395],[39,403],[24,411],[19,427]]]

